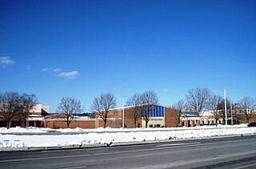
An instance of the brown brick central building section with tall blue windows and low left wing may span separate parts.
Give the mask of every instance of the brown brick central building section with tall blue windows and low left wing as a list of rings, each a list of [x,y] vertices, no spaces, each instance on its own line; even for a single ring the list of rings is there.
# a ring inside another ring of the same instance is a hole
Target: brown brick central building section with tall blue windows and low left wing
[[[134,128],[134,120],[131,117],[132,107],[114,108],[108,113],[106,128],[122,128],[122,110],[124,110],[125,128]],[[162,105],[154,105],[150,112],[150,121],[148,127],[177,127],[178,110]],[[62,120],[61,115],[46,116],[46,128],[66,128],[66,122]],[[70,123],[70,128],[103,128],[104,121],[96,113],[95,118],[75,116],[74,121]],[[145,120],[139,117],[136,123],[137,128],[145,128]]]

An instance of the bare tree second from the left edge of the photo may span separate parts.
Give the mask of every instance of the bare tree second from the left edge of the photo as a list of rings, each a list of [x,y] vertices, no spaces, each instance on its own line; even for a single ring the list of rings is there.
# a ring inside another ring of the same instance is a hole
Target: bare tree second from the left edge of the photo
[[[26,93],[23,93],[22,96],[19,96],[19,108],[16,117],[20,121],[22,128],[26,127],[26,120],[29,116],[29,112],[32,108],[34,108],[36,103],[37,98],[34,94],[27,95]]]

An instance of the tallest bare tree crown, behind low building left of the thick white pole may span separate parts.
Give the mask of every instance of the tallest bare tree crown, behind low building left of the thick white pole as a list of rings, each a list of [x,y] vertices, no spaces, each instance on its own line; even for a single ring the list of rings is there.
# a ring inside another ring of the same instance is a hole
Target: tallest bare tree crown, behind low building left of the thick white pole
[[[192,88],[186,93],[186,103],[191,112],[202,114],[209,108],[211,92],[208,88]]]

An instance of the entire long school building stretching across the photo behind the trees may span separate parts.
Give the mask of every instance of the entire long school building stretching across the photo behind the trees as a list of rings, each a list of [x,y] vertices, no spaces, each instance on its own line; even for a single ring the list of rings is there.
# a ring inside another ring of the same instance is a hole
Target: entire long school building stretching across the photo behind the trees
[[[218,121],[214,119],[212,112],[204,112],[202,115],[184,114],[180,116],[178,121],[178,110],[163,105],[152,105],[150,108],[150,120],[147,125],[149,128],[172,128],[172,127],[194,127],[200,125],[223,124],[222,118]],[[26,127],[38,128],[67,128],[67,124],[63,121],[64,116],[54,114],[49,116],[49,106],[36,104],[30,110],[26,120]],[[125,128],[134,128],[133,107],[122,107],[111,109],[106,120],[106,128],[122,128],[122,120],[124,120]],[[124,116],[122,116],[124,114]],[[124,117],[124,118],[123,118]],[[234,112],[232,118],[228,116],[228,124],[245,124],[246,118],[241,111]],[[256,121],[256,111],[251,116],[249,122]],[[9,126],[14,128],[20,126],[21,123],[17,117],[10,121]],[[74,116],[74,120],[70,123],[70,128],[103,128],[104,121],[96,114],[95,118],[88,116]],[[136,128],[145,128],[146,122],[142,116],[139,116],[135,124]],[[0,128],[6,127],[6,122],[0,116]]]

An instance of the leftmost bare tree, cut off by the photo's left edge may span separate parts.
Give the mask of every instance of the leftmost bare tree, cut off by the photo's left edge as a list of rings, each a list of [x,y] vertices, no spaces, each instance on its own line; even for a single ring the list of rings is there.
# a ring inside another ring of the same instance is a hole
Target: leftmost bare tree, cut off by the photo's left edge
[[[0,117],[6,121],[6,128],[10,128],[10,121],[18,112],[18,105],[18,92],[5,92],[0,95]]]

